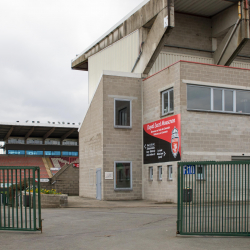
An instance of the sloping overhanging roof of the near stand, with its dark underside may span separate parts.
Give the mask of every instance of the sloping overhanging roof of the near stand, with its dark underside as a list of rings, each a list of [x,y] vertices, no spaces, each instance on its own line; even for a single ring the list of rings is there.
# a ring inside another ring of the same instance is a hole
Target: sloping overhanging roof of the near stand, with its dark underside
[[[71,62],[71,68],[87,71],[88,57],[105,49],[114,42],[129,35],[136,29],[140,27],[147,27],[150,21],[152,21],[155,17],[155,14],[162,9],[162,0],[160,2],[161,4],[159,4],[159,0],[145,0],[142,2],[137,8],[135,8],[120,22],[102,35],[97,41],[73,59]],[[166,7],[168,0],[165,0],[164,2]],[[238,0],[174,0],[174,11],[204,17],[212,17],[237,2]],[[139,18],[141,18],[141,14],[139,15],[139,13],[143,13],[145,15],[145,23],[140,23]],[[133,28],[130,30],[126,28],[123,29],[123,25],[124,27]],[[117,36],[114,35],[116,33],[118,34]]]

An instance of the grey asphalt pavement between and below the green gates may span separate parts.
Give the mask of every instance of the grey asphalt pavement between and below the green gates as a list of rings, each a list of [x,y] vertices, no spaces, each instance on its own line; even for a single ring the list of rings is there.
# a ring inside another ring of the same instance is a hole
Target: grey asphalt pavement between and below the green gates
[[[114,202],[117,206],[112,207],[108,202],[110,207],[94,207],[96,201],[85,202],[78,208],[42,209],[43,233],[0,231],[0,249],[230,250],[250,246],[246,237],[176,236],[176,205],[131,201],[126,202],[130,206]]]

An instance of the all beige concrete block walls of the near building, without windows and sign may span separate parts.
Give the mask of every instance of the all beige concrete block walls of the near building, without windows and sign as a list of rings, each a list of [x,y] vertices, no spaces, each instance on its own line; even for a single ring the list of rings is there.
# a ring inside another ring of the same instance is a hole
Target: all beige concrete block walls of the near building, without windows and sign
[[[187,82],[249,90],[249,77],[249,70],[187,62],[176,63],[143,82],[104,75],[80,131],[80,194],[95,198],[95,169],[101,167],[104,200],[177,202],[177,163],[142,163],[142,125],[176,114],[181,114],[182,161],[231,160],[233,155],[250,155],[250,116],[187,111],[186,100]],[[172,87],[174,113],[162,116],[161,92]],[[132,100],[132,129],[114,128],[114,98]],[[132,191],[115,191],[114,180],[105,180],[105,172],[114,172],[115,161],[132,162]],[[172,181],[167,179],[169,165],[173,166]],[[157,180],[157,174],[149,181],[151,166],[155,173],[158,166],[163,167],[162,181]]]

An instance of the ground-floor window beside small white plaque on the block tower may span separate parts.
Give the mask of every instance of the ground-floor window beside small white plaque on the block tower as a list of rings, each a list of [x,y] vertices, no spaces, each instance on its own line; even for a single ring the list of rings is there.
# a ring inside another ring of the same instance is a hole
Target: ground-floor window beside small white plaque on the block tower
[[[132,189],[132,162],[116,161],[114,172],[114,188],[116,190]]]

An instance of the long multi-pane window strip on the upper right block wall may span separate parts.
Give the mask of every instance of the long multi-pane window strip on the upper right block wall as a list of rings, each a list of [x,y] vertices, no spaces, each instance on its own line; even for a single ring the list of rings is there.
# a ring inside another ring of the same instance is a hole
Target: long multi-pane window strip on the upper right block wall
[[[187,109],[250,114],[250,91],[187,85]]]

